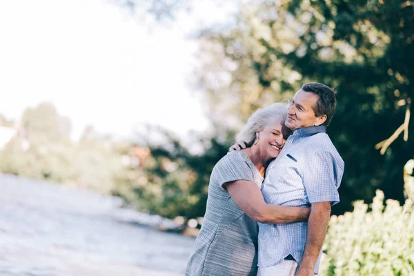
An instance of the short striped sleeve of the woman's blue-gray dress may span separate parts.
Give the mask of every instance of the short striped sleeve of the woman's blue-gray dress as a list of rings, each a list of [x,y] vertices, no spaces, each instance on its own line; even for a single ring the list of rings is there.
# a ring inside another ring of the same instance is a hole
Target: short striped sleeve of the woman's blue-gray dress
[[[216,164],[212,177],[215,177],[221,189],[224,189],[224,184],[231,181],[255,181],[252,169],[240,154],[241,152],[230,152]]]

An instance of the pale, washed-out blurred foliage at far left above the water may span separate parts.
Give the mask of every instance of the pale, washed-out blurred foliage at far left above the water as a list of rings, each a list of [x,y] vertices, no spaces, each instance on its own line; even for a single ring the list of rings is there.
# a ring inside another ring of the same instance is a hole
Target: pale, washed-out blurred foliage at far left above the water
[[[123,170],[117,146],[87,130],[70,139],[70,120],[41,103],[23,113],[17,135],[1,149],[0,171],[110,193]]]

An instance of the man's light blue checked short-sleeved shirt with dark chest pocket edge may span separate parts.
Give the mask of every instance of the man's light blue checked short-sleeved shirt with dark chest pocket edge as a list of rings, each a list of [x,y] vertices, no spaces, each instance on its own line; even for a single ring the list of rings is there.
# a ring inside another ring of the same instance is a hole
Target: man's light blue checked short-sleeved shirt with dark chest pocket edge
[[[343,173],[344,161],[326,134],[326,126],[299,128],[266,171],[264,200],[282,206],[309,207],[322,201],[337,204]],[[307,222],[259,224],[258,266],[274,266],[288,255],[300,264],[307,229]],[[315,274],[320,257],[319,253]]]

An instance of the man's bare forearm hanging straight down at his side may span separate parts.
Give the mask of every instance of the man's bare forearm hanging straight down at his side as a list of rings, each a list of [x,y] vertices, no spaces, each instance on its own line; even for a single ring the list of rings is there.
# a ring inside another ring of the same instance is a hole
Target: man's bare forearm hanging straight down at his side
[[[308,219],[308,233],[302,262],[296,276],[313,276],[313,270],[324,244],[326,229],[331,217],[331,202],[317,202],[312,204],[311,215]]]

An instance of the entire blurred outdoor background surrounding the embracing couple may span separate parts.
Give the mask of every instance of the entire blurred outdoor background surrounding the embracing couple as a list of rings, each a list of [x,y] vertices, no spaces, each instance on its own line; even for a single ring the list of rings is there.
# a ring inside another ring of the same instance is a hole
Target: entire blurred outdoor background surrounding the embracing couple
[[[183,275],[259,107],[337,89],[321,275],[414,275],[404,1],[0,1],[0,275]]]

